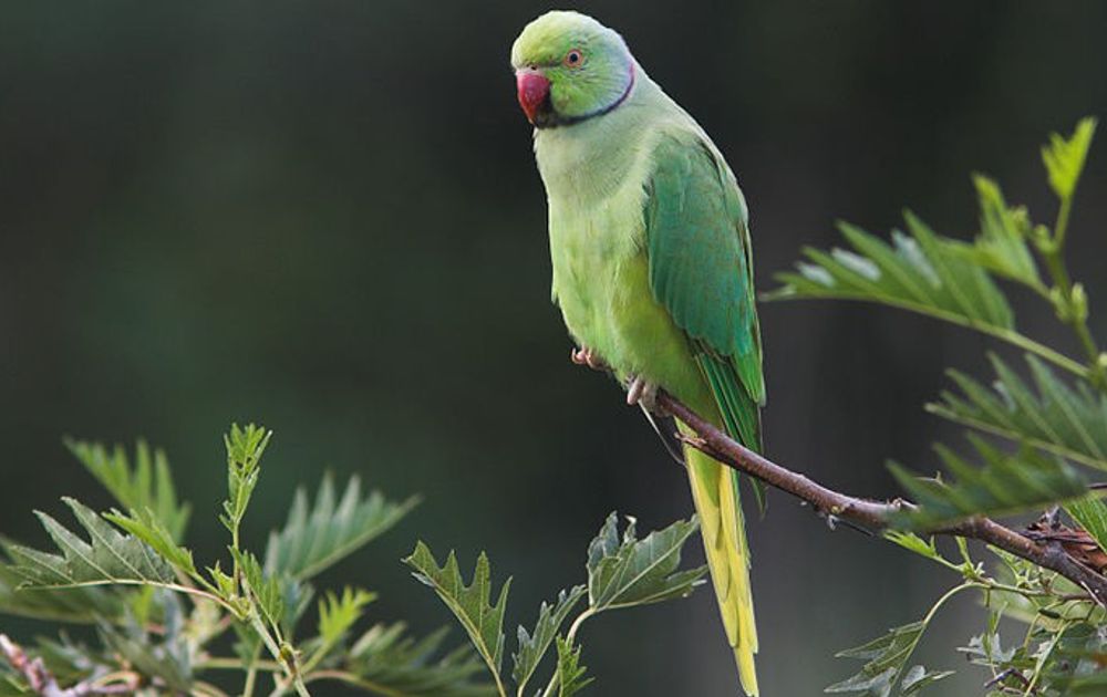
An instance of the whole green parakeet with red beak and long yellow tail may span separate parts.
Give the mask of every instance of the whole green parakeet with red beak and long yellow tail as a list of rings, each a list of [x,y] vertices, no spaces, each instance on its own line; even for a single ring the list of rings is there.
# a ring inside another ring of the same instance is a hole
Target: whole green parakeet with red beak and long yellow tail
[[[554,299],[628,402],[660,387],[761,449],[765,404],[746,202],[703,128],[617,32],[549,12],[511,48],[549,201]],[[684,428],[677,424],[679,428]],[[734,470],[685,448],[692,495],[742,687],[757,695],[757,631]]]

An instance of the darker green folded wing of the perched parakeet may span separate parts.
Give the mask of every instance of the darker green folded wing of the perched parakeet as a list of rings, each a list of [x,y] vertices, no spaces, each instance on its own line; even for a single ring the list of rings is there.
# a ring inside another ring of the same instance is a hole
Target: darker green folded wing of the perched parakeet
[[[726,430],[761,449],[765,381],[742,191],[692,132],[660,137],[645,187],[651,291],[689,337]]]

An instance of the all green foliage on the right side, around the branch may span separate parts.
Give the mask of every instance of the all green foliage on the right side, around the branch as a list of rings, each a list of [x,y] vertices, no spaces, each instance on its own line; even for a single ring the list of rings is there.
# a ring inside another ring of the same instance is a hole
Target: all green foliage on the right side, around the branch
[[[1096,571],[1107,566],[1107,503],[1088,491],[1088,470],[1107,469],[1107,355],[1088,326],[1084,288],[1073,282],[1063,256],[1094,132],[1095,121],[1084,119],[1070,137],[1052,135],[1042,150],[1057,198],[1052,228],[1033,222],[1024,207],[1007,204],[995,181],[975,175],[980,231],[971,242],[943,237],[910,212],[908,233],[893,230],[890,243],[842,223],[849,250],[805,250],[807,260],[795,272],[777,277],[784,285],[774,298],[862,300],[976,330],[1021,350],[1028,374],[1021,375],[996,354],[990,355],[991,385],[962,371],[949,372],[955,388],[927,408],[971,429],[971,455],[935,444],[945,470],[935,478],[918,478],[891,464],[915,506],[890,521],[900,530],[886,537],[956,572],[961,583],[923,620],[839,654],[866,664],[827,691],[911,695],[945,677],[948,672],[908,665],[935,612],[966,590],[979,591],[989,610],[987,626],[962,649],[971,663],[991,672],[989,695],[1098,695],[1107,688],[1107,621],[1086,590],[1000,550],[992,550],[1000,571],[989,574],[963,540],[960,560],[952,561],[932,540],[907,531],[940,530],[975,516],[1053,511],[1062,504],[1075,528],[1051,512],[1027,534]],[[1065,355],[1021,333],[1003,283],[1028,289],[1047,302],[1084,355]],[[1026,623],[1021,644],[1004,648],[999,631],[1003,617]]]

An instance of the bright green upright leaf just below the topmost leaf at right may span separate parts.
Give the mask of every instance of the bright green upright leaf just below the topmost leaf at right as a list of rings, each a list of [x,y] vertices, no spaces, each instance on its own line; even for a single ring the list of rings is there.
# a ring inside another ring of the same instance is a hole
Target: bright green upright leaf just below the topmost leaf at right
[[[980,235],[973,245],[954,242],[953,251],[1004,278],[1045,292],[1034,254],[1026,243],[1031,220],[1025,208],[1008,208],[995,181],[975,175],[980,199]]]

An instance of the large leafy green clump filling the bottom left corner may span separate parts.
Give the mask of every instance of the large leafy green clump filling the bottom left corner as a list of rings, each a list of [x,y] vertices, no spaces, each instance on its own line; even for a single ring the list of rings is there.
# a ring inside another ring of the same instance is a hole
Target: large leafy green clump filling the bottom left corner
[[[139,443],[132,467],[122,448],[69,441],[127,512],[96,513],[65,498],[75,527],[37,513],[54,550],[2,542],[0,612],[94,627],[93,642],[62,633],[38,639],[29,653],[60,686],[75,690],[110,680],[142,686],[139,694],[218,695],[210,676],[225,682],[231,669],[242,676],[244,695],[254,694],[261,674],[272,676],[273,687],[266,689],[273,695],[309,694],[308,685],[318,680],[375,695],[489,694],[479,682],[479,658],[466,646],[443,651],[444,631],[416,638],[401,622],[355,634],[375,597],[369,591],[324,593],[314,632],[294,639],[307,631],[303,617],[313,595],[308,579],[392,527],[414,499],[394,502],[365,493],[356,477],[337,499],[327,476],[314,507],[309,509],[304,491],[297,493],[262,564],[240,545],[238,529],[271,435],[250,425],[232,426],[225,437],[228,496],[220,520],[230,533],[229,559],[203,566],[185,544],[189,507],[176,498],[164,454]],[[229,572],[223,571],[224,561]],[[231,655],[221,653],[227,628],[237,637]],[[24,679],[6,667],[0,694],[21,694]]]

